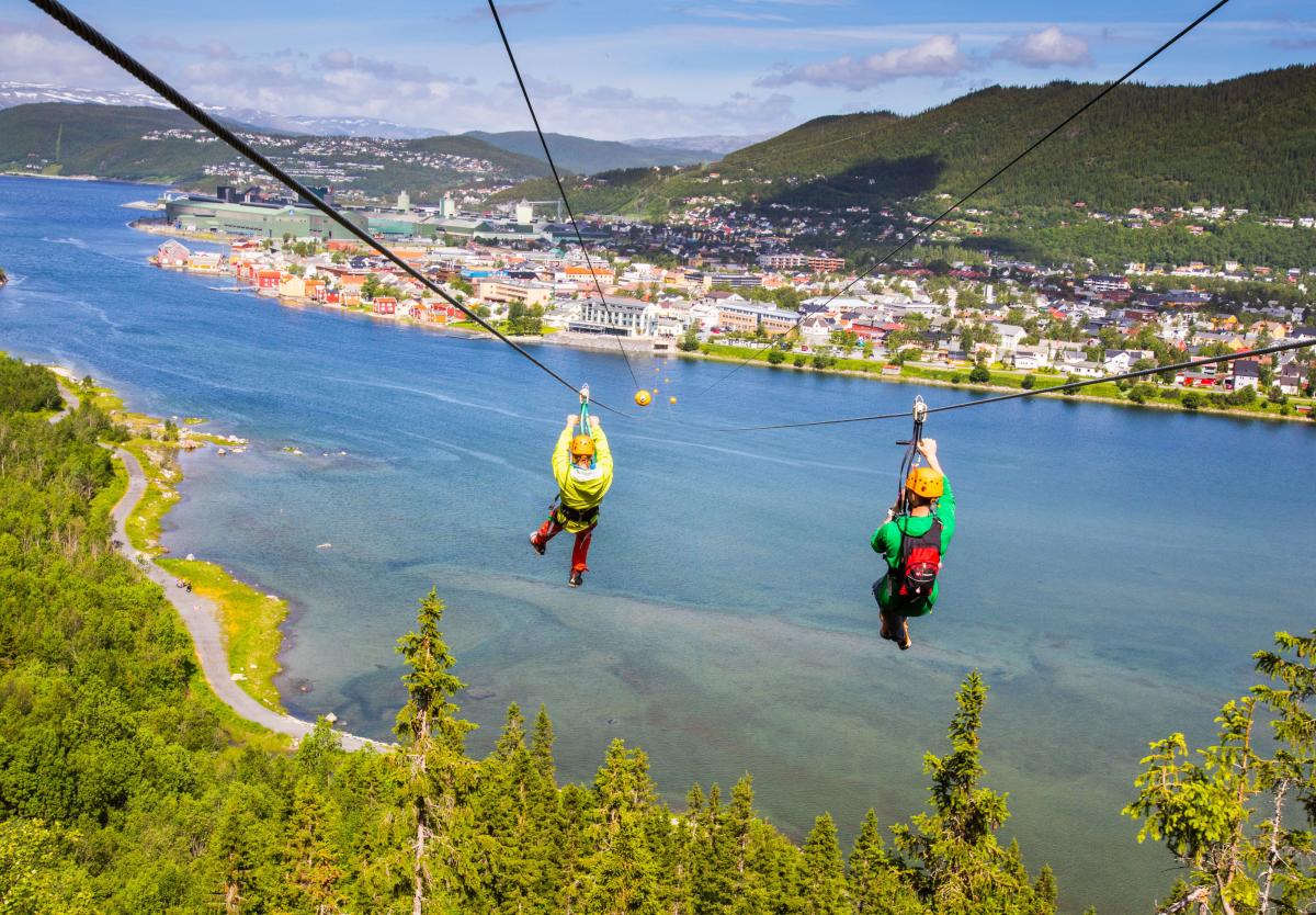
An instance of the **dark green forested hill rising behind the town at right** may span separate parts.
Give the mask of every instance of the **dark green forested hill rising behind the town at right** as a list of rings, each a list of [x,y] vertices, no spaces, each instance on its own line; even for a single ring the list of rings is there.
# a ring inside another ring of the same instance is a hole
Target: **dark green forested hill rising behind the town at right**
[[[911,117],[820,117],[661,183],[634,172],[599,175],[591,188],[576,182],[574,196],[582,209],[636,213],[665,200],[713,194],[821,207],[959,196],[1099,90],[1066,82],[995,86]],[[1207,86],[1121,86],[983,191],[976,205],[1083,201],[1124,212],[1209,201],[1274,215],[1313,213],[1313,66]],[[530,183],[515,192],[541,190]]]

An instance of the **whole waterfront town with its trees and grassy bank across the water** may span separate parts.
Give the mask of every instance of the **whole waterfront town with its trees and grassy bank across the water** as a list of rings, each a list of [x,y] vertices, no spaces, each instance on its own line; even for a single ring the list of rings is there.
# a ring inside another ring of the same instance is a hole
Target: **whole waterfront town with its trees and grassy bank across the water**
[[[836,251],[792,245],[794,234],[816,234],[807,217],[794,216],[791,233],[762,217],[737,220],[715,201],[688,204],[670,225],[590,221],[587,251],[557,201],[480,208],[447,195],[438,207],[413,207],[401,192],[392,207],[346,213],[466,308],[546,344],[711,358],[767,350],[762,362],[771,366],[1032,388],[1316,342],[1316,308],[1305,304],[1312,271],[1129,263],[1123,274],[1096,273],[978,253],[950,261],[962,251],[926,245],[859,278]],[[228,244],[222,254],[166,241],[153,258],[161,267],[230,275],[290,301],[478,330],[304,203],[224,186],[213,196],[167,194],[161,205],[163,219],[138,228]],[[905,226],[917,224],[905,217]],[[1307,353],[1090,392],[1311,416],[1316,367]]]

